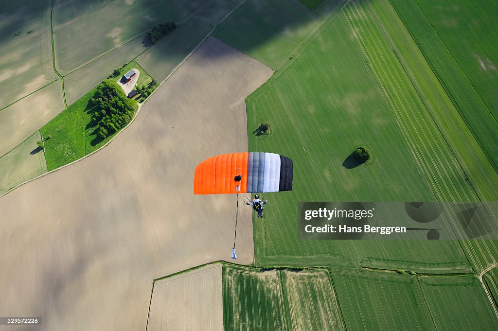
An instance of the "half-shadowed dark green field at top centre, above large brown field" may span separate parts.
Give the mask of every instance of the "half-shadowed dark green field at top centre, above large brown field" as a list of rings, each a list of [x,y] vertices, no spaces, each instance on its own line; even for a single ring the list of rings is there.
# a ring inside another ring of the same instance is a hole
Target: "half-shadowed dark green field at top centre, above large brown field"
[[[278,70],[319,19],[297,0],[247,0],[213,36]]]

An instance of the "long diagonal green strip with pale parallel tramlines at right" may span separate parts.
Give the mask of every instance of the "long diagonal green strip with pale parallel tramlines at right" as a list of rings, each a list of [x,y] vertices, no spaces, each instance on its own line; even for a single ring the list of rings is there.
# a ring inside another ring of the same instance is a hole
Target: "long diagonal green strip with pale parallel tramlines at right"
[[[453,153],[453,149],[465,148],[466,141],[455,142],[445,139],[437,123],[433,120],[431,110],[425,106],[411,77],[406,74],[402,62],[387,38],[383,35],[380,26],[376,23],[373,10],[368,2],[352,0],[343,8],[352,29],[358,36],[359,43],[365,53],[370,68],[381,86],[386,99],[389,101],[397,122],[402,128],[405,138],[422,167],[435,198],[438,201],[479,202],[493,199],[494,192],[479,194],[484,186],[485,178],[477,178],[478,189],[465,172],[465,166]],[[393,78],[395,78],[393,80]],[[458,144],[457,144],[458,143]],[[479,149],[477,150],[479,152]],[[490,169],[496,181],[496,176]],[[474,178],[472,178],[474,180]],[[485,197],[489,197],[486,199]],[[495,195],[495,199],[496,199]],[[445,215],[454,223],[454,230],[461,231],[456,224],[458,215],[446,209]],[[491,226],[491,216],[484,218]],[[463,236],[463,233],[459,233]],[[494,261],[498,256],[496,245],[485,241],[462,240],[462,247],[476,269],[482,269]]]

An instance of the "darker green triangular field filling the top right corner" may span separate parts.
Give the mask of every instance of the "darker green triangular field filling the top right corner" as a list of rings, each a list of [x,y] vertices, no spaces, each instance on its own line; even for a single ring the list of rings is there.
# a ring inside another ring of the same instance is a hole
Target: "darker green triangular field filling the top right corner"
[[[493,92],[497,84],[496,76],[490,77],[494,76],[492,68],[496,61],[490,59],[496,56],[496,46],[492,46],[496,45],[496,19],[493,19],[493,12],[498,11],[496,3],[452,1],[441,7],[432,1],[391,2],[489,162],[498,171],[495,151],[498,110],[496,92]],[[480,67],[480,61],[486,70]]]

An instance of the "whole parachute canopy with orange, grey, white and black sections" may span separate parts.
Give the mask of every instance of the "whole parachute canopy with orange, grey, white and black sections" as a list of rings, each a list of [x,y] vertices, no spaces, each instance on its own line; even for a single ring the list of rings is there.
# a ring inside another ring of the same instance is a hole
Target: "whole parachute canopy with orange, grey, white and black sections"
[[[194,194],[291,191],[292,160],[264,152],[213,156],[195,168]]]

